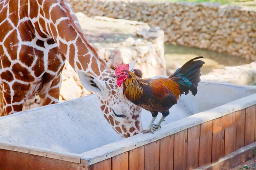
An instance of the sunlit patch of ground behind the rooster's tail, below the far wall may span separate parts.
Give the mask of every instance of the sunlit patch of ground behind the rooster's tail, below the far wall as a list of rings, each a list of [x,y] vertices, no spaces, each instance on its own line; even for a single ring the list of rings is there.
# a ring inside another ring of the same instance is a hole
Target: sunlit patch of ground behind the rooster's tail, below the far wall
[[[165,53],[168,74],[180,68],[180,66],[189,61],[189,59],[198,56],[204,56],[202,60],[206,62],[203,68],[201,68],[202,75],[209,73],[215,68],[224,68],[226,66],[243,65],[253,62],[252,60],[221,54],[215,51],[175,45],[165,45]]]

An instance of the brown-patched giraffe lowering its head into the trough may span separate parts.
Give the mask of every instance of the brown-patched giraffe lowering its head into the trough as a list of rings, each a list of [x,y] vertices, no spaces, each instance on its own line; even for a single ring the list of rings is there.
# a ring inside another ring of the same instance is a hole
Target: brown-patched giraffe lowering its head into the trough
[[[36,94],[42,106],[58,103],[66,60],[82,85],[96,93],[116,133],[127,138],[142,131],[141,108],[117,88],[115,74],[85,39],[69,3],[0,0],[1,116],[22,111],[24,101]]]

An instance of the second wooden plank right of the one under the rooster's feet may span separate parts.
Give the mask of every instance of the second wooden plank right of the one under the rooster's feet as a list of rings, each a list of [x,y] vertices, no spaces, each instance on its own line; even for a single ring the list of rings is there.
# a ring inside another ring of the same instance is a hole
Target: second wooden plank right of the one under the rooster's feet
[[[174,134],[174,170],[187,169],[187,129]],[[168,159],[168,158],[166,158]]]

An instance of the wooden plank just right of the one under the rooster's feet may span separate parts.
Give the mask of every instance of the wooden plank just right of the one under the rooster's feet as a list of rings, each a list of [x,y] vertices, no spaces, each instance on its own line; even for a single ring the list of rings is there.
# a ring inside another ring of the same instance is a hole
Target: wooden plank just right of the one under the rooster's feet
[[[174,135],[160,139],[160,170],[173,170]]]

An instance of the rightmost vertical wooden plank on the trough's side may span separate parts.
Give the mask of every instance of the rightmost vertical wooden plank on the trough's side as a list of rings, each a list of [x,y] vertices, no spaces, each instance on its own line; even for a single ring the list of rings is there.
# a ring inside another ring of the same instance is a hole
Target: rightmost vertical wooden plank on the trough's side
[[[245,133],[244,146],[254,142],[255,138],[255,105],[246,108],[245,110]]]

